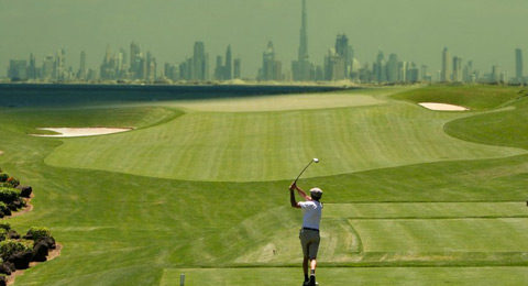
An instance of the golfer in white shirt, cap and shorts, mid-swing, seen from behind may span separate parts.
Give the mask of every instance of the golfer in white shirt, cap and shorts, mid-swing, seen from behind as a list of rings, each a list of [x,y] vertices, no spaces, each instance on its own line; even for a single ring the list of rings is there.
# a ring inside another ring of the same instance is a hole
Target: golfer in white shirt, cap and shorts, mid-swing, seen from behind
[[[299,201],[295,199],[295,193],[297,190],[306,201]],[[319,223],[321,221],[322,204],[319,201],[322,197],[322,190],[320,188],[310,189],[310,196],[297,187],[294,183],[289,186],[289,201],[292,207],[302,209],[302,229],[300,229],[299,239],[302,246],[302,270],[305,272],[304,286],[316,285],[316,266],[317,266],[317,252],[319,251],[319,242],[321,237],[319,235]],[[308,264],[310,265],[310,276],[308,278]]]

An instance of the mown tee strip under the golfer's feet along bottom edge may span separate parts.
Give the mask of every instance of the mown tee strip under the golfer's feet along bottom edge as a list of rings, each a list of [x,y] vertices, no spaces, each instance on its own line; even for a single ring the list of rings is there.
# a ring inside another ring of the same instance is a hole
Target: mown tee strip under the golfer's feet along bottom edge
[[[332,267],[317,272],[320,285],[462,285],[519,286],[528,280],[527,267]],[[300,285],[299,268],[166,268],[161,286],[179,285]]]

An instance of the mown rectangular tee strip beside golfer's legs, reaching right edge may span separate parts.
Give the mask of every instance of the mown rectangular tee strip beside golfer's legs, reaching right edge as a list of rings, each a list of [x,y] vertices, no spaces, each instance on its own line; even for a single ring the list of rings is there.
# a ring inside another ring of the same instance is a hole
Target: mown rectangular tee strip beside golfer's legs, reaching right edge
[[[351,224],[365,252],[528,252],[527,218],[351,220]]]

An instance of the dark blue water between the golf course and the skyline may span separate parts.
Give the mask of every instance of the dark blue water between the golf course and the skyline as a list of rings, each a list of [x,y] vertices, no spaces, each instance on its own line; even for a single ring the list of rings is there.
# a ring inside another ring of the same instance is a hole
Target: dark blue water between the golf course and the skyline
[[[204,100],[341,89],[331,86],[0,84],[0,108]]]

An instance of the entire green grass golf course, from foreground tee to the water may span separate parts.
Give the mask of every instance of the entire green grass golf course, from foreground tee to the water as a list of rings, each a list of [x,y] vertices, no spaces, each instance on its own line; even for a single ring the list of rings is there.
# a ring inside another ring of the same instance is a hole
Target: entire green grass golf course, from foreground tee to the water
[[[321,285],[524,285],[519,89],[372,88],[278,96],[279,106],[106,95],[108,105],[0,108],[0,165],[40,190],[34,210],[10,222],[45,221],[64,245],[15,285],[177,285],[182,273],[187,286],[299,284],[301,213],[287,186],[314,157],[299,186],[324,190]],[[134,130],[28,135],[42,127]]]

